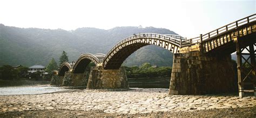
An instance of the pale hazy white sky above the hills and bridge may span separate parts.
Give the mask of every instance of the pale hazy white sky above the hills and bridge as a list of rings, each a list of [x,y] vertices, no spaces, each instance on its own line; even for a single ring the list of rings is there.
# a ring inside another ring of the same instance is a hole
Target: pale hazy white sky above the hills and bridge
[[[0,0],[0,24],[16,27],[167,28],[188,38],[256,12],[255,1]]]

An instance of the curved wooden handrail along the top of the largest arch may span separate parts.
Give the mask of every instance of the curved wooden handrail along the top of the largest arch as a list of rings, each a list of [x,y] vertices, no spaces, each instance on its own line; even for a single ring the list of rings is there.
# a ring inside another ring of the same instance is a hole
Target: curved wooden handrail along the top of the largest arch
[[[167,36],[165,34],[156,34],[156,33],[139,33],[139,34],[134,34],[134,35],[131,35],[131,36],[125,38],[122,41],[119,41],[114,47],[111,48],[111,50],[109,51],[109,53],[106,54],[106,56],[109,56],[109,54],[111,54],[114,49],[116,49],[119,45],[121,45],[122,43],[124,43],[126,41],[130,41],[130,40],[137,39],[137,38],[149,38],[149,36],[150,36],[150,38],[159,38],[159,39],[163,39],[163,40],[166,40],[166,41],[170,41],[170,42],[174,43],[177,46],[181,46],[181,43],[182,43],[182,40],[183,40],[182,36],[179,36],[179,37],[176,36],[176,38],[177,38],[176,39],[176,38],[173,38],[171,36]]]

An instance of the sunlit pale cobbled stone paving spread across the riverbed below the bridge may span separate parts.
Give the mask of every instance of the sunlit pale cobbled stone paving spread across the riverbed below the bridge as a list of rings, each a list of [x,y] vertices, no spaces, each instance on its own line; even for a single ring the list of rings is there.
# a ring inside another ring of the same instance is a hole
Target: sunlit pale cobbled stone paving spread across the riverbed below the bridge
[[[211,108],[253,107],[256,97],[235,95],[168,95],[167,89],[130,91],[81,90],[78,92],[0,96],[0,113],[24,110],[103,110],[136,114],[179,112]]]

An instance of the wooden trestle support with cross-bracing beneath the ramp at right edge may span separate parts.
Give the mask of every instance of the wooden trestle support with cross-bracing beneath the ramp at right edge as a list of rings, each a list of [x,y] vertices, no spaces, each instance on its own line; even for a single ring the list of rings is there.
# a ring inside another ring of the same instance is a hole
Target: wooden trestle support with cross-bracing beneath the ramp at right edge
[[[245,92],[253,90],[256,96],[256,64],[254,50],[255,43],[251,43],[249,46],[243,46],[239,37],[234,36],[237,51],[237,71],[238,71],[238,91],[239,97],[242,98]],[[249,47],[249,48],[248,48]],[[243,53],[245,51],[245,53]],[[246,56],[245,56],[246,55]],[[242,63],[244,60],[244,63]],[[249,61],[250,60],[250,61]],[[250,86],[251,85],[251,86]]]

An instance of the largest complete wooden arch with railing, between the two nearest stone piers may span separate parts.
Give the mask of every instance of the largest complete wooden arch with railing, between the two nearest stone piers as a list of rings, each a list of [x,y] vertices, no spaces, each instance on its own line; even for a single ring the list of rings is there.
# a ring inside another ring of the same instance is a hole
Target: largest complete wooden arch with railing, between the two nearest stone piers
[[[134,34],[117,43],[103,60],[104,69],[119,69],[121,64],[134,51],[147,45],[156,45],[172,53],[179,53],[181,41],[185,38],[171,34]]]

